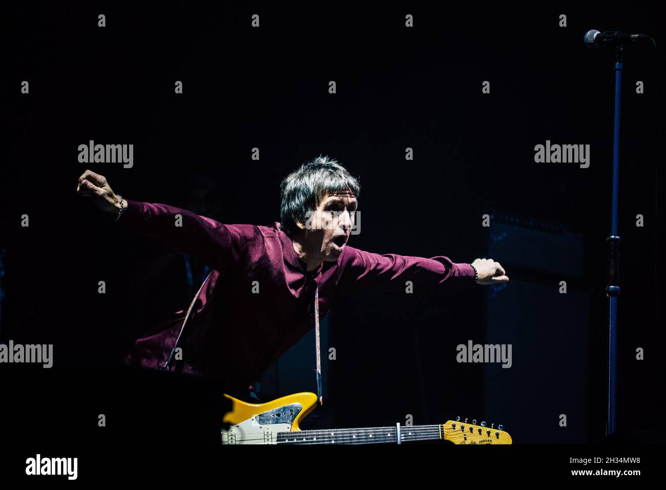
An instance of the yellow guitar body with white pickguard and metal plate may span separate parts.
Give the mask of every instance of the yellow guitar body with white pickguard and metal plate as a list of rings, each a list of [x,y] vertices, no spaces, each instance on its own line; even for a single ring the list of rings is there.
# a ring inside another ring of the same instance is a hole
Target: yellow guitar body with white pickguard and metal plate
[[[294,393],[267,403],[246,403],[229,395],[232,409],[222,421],[222,444],[276,444],[278,432],[300,431],[298,424],[317,403],[314,393]]]

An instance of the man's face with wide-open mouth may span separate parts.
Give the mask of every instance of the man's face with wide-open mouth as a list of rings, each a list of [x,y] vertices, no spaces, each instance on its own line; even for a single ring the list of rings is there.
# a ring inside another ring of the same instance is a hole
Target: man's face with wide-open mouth
[[[324,196],[304,225],[308,253],[322,261],[337,261],[352,233],[357,205],[351,192]]]

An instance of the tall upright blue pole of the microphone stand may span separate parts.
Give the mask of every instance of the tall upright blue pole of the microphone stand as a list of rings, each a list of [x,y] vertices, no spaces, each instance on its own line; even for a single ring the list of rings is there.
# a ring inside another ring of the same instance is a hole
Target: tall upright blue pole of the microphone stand
[[[611,209],[611,235],[606,238],[606,295],[609,299],[608,325],[608,413],[606,435],[615,433],[617,409],[617,299],[619,287],[620,237],[617,234],[617,187],[620,145],[620,80],[622,75],[622,44],[615,47],[615,117],[613,119],[613,203]]]

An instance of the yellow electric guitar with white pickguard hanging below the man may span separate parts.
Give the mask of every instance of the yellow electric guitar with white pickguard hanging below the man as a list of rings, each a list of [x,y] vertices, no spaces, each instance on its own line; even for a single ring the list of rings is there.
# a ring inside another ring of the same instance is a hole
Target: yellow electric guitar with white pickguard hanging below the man
[[[486,427],[448,421],[442,425],[403,425],[363,427],[362,429],[322,429],[302,431],[300,423],[314,408],[317,395],[295,393],[268,403],[246,403],[229,395],[232,410],[224,416],[229,424],[222,429],[222,444],[371,444],[444,439],[454,444],[511,444],[511,436],[498,425]]]

